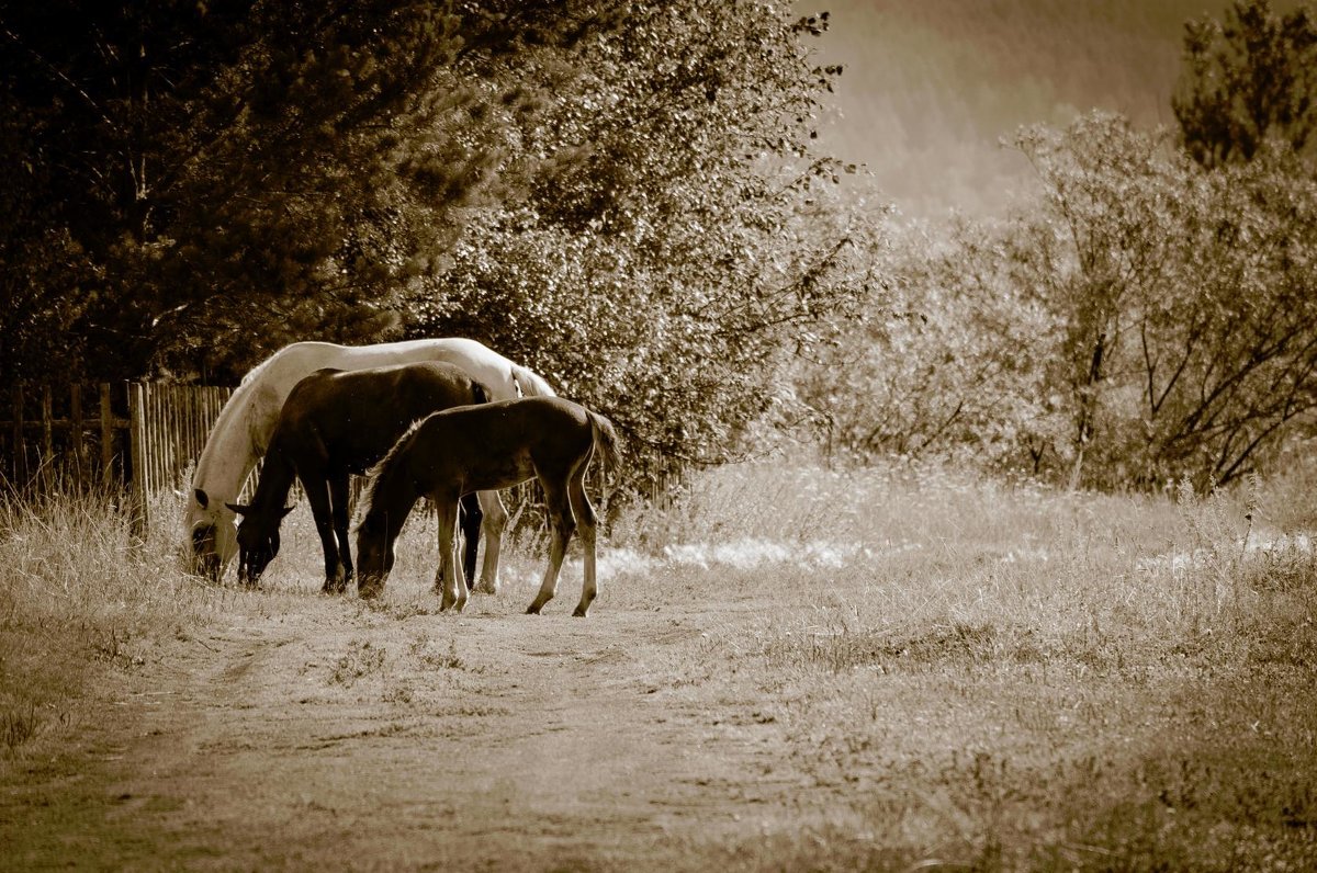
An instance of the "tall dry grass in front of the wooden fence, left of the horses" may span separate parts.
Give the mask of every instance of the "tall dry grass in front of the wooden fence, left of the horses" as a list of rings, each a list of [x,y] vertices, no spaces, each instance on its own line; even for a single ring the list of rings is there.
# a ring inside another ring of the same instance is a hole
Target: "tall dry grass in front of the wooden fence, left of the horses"
[[[205,622],[217,594],[167,533],[134,537],[117,494],[0,494],[0,754],[67,724],[97,669]]]

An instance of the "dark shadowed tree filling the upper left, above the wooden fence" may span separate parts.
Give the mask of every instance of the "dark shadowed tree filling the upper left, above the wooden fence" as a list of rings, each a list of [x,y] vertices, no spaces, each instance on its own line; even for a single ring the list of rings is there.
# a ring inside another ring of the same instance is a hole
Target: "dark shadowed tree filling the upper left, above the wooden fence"
[[[495,175],[479,105],[515,91],[453,65],[582,26],[552,0],[8,4],[5,367],[61,331],[51,369],[111,378],[396,329],[379,300],[452,245]]]

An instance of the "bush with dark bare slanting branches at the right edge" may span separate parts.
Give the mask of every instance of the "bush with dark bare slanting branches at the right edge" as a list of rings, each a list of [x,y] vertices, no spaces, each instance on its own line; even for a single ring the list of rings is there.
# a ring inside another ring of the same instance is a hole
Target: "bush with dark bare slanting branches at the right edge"
[[[1317,407],[1317,183],[1167,145],[1101,115],[1019,140],[1047,200],[1014,269],[1063,324],[1076,483],[1227,482]]]

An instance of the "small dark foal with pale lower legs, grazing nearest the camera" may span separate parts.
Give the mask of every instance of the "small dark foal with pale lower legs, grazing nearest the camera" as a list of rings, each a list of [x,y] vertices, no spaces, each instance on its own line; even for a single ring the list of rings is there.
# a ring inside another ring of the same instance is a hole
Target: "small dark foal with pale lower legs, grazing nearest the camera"
[[[357,571],[362,596],[383,587],[394,564],[394,542],[416,500],[439,511],[441,608],[466,606],[466,581],[456,571],[453,542],[457,500],[483,489],[507,489],[537,477],[544,489],[552,542],[549,568],[527,612],[539,614],[558,583],[572,533],[585,546],[585,585],[573,615],[585,616],[598,591],[595,515],[585,494],[585,471],[595,449],[606,467],[619,460],[612,424],[561,398],[527,398],[436,412],[398,441],[373,473],[366,510],[357,525]]]

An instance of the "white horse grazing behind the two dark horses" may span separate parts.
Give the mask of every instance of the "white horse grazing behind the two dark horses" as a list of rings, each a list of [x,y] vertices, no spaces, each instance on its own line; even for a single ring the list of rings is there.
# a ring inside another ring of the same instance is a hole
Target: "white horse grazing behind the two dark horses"
[[[419,361],[444,361],[461,367],[489,390],[491,400],[554,396],[553,388],[540,375],[475,340],[448,337],[363,346],[294,342],[284,346],[242,377],[242,383],[220,411],[196,462],[184,516],[188,537],[184,548],[191,554],[192,569],[219,579],[237,554],[236,516],[228,504],[237,503],[248,475],[265,456],[292,386],[321,367],[363,370]],[[497,491],[482,491],[478,496],[481,531],[485,533],[478,590],[493,594],[498,591],[499,549],[507,510]]]

